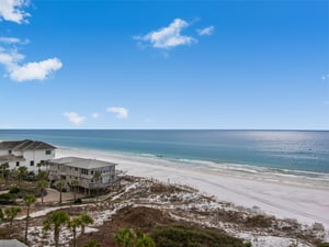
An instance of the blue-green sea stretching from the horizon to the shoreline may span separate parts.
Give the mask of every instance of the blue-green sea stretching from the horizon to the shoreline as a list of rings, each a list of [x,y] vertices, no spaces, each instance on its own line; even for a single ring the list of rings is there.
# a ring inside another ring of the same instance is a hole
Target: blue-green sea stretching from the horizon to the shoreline
[[[0,141],[25,138],[60,147],[329,173],[328,131],[0,130]]]

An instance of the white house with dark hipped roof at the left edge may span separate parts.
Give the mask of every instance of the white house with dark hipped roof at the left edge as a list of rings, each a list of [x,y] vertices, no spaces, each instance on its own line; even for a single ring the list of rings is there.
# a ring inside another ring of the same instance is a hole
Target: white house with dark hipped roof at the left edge
[[[0,164],[8,162],[9,169],[21,166],[27,167],[29,171],[37,173],[36,165],[55,157],[55,149],[50,144],[38,141],[5,141],[0,143]]]

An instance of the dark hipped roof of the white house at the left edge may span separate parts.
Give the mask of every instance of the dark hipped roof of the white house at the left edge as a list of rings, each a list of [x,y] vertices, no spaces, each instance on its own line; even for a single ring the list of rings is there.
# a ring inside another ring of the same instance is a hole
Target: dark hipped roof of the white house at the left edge
[[[55,149],[50,144],[38,141],[4,141],[0,143],[2,150],[35,150],[35,149]]]

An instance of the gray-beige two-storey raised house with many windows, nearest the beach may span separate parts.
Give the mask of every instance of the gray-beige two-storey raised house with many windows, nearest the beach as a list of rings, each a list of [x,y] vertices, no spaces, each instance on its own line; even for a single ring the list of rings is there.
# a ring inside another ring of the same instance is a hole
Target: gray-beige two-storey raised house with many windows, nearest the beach
[[[67,189],[71,189],[72,180],[78,181],[78,188],[84,192],[102,190],[116,182],[116,164],[97,159],[64,157],[48,161],[50,183],[64,181]]]

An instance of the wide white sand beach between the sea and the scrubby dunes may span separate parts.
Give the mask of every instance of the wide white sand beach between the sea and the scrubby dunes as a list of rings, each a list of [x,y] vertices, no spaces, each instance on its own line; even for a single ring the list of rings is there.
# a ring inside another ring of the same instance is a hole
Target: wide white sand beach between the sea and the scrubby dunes
[[[302,224],[315,222],[329,229],[329,188],[307,179],[203,169],[202,164],[175,162],[155,157],[58,148],[56,158],[77,156],[118,164],[127,175],[186,184],[218,200]]]

